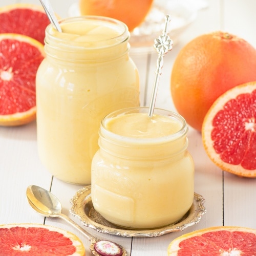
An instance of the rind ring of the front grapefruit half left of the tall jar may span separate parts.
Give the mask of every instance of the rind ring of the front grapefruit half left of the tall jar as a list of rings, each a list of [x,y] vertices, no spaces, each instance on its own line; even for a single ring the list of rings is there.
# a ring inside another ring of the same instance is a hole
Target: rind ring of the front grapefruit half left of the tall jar
[[[13,34],[13,33],[0,34],[0,41],[4,39],[13,39],[20,42],[26,42],[32,47],[35,47],[40,52],[42,58],[46,56],[44,51],[44,45],[42,45],[39,41],[29,36],[22,35],[22,34]],[[1,70],[1,67],[0,67],[0,70]],[[1,91],[1,87],[0,87],[0,91]],[[36,118],[36,106],[32,106],[31,109],[24,112],[17,112],[17,113],[8,114],[8,115],[0,114],[0,125],[2,126],[23,125],[33,121],[35,118]]]

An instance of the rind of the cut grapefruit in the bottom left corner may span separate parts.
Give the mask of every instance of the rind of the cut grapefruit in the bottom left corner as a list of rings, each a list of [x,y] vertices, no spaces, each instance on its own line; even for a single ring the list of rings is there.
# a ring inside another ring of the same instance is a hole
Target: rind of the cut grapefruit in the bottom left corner
[[[86,251],[85,248],[83,246],[82,241],[72,232],[61,229],[61,228],[57,228],[57,227],[53,227],[53,226],[49,226],[49,225],[43,225],[43,224],[32,224],[32,223],[19,223],[19,224],[5,224],[5,225],[0,225],[0,229],[1,228],[14,228],[14,227],[25,227],[25,228],[45,228],[48,229],[49,231],[55,231],[58,233],[63,234],[64,237],[69,238],[72,241],[72,245],[76,247],[76,252],[73,253],[73,256],[78,256],[78,255],[86,255]],[[26,237],[24,237],[26,239]],[[20,241],[23,238],[20,238]],[[1,237],[0,237],[0,241],[1,241]],[[27,242],[27,241],[26,241]],[[1,250],[1,243],[0,243],[0,251],[3,253],[3,251]],[[17,251],[15,251],[17,253]],[[8,251],[6,253],[12,254],[11,251]],[[39,253],[39,252],[38,252]],[[26,254],[26,253],[25,253]],[[18,254],[15,254],[18,255]]]

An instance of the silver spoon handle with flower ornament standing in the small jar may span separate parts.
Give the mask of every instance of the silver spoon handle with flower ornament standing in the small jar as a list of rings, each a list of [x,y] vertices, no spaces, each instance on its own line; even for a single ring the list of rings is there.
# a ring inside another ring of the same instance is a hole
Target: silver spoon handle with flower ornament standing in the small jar
[[[161,75],[161,70],[163,68],[164,54],[166,54],[168,51],[173,49],[173,40],[170,39],[167,33],[167,25],[169,22],[170,22],[170,16],[166,15],[165,26],[164,26],[162,35],[160,35],[158,38],[155,39],[154,48],[158,52],[158,59],[157,59],[157,69],[155,71],[153,92],[152,92],[151,101],[150,101],[150,109],[148,111],[148,116],[150,117],[152,117],[154,108],[155,108],[157,89],[158,89],[159,79]]]

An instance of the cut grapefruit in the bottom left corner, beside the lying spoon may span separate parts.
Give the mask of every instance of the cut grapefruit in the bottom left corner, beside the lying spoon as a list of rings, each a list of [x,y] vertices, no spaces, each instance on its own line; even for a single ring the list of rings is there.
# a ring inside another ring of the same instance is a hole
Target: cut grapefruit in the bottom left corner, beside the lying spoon
[[[40,224],[0,225],[1,255],[85,255],[75,234]]]

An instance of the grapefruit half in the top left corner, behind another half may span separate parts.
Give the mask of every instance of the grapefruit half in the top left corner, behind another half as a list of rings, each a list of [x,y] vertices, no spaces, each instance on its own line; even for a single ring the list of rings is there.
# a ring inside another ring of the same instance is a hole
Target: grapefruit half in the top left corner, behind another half
[[[13,4],[0,8],[0,33],[30,36],[44,44],[45,29],[50,21],[41,6]]]

